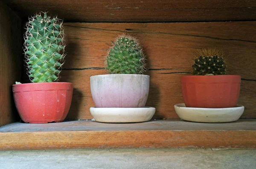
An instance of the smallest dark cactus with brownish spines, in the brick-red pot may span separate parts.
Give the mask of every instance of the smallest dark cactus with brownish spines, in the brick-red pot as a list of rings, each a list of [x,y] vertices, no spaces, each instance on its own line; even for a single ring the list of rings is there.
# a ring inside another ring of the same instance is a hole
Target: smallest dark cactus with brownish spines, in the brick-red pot
[[[198,51],[192,68],[194,75],[224,75],[227,65],[222,51],[202,49]]]

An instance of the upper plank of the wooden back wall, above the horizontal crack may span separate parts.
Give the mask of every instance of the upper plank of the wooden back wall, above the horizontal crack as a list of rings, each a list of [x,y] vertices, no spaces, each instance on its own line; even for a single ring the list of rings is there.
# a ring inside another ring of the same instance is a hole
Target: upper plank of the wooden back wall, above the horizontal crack
[[[214,23],[65,23],[67,64],[64,69],[102,68],[108,44],[130,30],[144,45],[149,69],[191,72],[200,48],[223,49],[228,73],[256,79],[256,22]]]

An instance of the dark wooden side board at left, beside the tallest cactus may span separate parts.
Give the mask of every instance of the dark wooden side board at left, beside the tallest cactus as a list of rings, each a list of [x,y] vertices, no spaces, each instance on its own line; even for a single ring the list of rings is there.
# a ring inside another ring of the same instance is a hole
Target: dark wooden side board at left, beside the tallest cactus
[[[17,119],[12,85],[21,80],[21,19],[0,2],[0,126]]]

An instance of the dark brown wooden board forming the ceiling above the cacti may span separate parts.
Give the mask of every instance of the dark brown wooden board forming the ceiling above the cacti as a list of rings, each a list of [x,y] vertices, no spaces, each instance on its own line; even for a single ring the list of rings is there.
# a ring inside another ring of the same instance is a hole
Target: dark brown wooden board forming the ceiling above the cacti
[[[255,20],[255,0],[2,0],[27,18],[40,11],[66,22]]]

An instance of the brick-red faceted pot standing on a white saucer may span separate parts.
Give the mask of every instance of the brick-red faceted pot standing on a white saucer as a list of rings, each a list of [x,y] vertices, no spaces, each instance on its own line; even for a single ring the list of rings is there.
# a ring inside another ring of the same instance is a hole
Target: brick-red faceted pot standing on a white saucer
[[[186,107],[236,107],[241,76],[181,76],[183,100]]]

